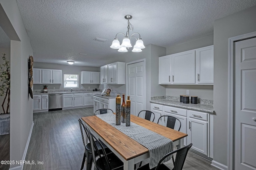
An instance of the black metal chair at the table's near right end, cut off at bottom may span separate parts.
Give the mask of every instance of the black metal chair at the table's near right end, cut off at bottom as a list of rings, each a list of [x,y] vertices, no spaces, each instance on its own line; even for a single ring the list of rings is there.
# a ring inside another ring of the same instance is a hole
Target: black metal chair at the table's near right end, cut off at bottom
[[[146,164],[140,168],[138,168],[137,170],[170,170],[170,168],[168,168],[165,164],[162,163],[162,161],[167,158],[168,156],[176,153],[176,158],[175,158],[175,162],[174,162],[174,168],[172,170],[182,170],[184,162],[186,160],[186,156],[188,154],[188,150],[192,147],[192,143],[190,143],[189,145],[180,148],[178,150],[174,150],[168,154],[166,154],[159,162],[158,165],[156,166],[156,168],[149,168],[149,164]]]

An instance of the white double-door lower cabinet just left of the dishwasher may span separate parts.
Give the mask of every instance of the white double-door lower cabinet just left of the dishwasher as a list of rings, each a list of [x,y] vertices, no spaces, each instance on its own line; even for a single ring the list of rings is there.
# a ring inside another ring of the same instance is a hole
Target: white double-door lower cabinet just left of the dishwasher
[[[33,112],[48,111],[48,94],[36,94],[33,96]]]

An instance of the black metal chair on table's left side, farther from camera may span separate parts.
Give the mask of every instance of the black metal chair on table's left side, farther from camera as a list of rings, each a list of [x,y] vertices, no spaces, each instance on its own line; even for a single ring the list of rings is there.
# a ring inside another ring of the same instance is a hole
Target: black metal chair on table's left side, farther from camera
[[[90,143],[85,143],[84,141],[84,133],[86,134],[86,136],[89,139],[89,135],[87,132],[87,127],[85,127],[85,125],[82,123],[81,119],[78,119],[79,125],[80,125],[80,130],[81,130],[81,134],[82,134],[82,139],[83,139],[83,144],[84,144],[84,157],[83,157],[83,161],[82,161],[82,166],[81,166],[81,170],[84,168],[84,162],[85,159],[87,157],[87,162],[86,162],[86,170],[91,170],[92,169],[92,149],[91,149],[91,144]],[[111,150],[108,149],[108,147],[106,145],[104,145],[103,143],[97,141],[96,143],[96,147],[98,148],[98,150],[100,152],[102,152],[102,147],[108,152],[110,153]]]

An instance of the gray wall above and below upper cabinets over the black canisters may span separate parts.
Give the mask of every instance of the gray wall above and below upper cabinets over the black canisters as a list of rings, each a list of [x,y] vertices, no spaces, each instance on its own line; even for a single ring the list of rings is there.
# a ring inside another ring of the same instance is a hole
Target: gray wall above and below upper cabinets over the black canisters
[[[166,48],[166,55],[180,53],[192,49],[198,49],[213,45],[213,34],[194,39],[178,45]],[[215,48],[215,46],[214,46]],[[215,83],[215,82],[214,82]],[[213,100],[213,85],[163,85],[166,87],[166,96],[177,96],[186,94],[190,90],[190,96],[198,96],[201,99]]]

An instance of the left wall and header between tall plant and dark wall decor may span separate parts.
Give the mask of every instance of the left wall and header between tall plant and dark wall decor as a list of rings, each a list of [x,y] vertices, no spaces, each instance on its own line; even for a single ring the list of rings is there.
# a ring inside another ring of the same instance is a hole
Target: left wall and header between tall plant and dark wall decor
[[[4,22],[1,27],[11,23],[13,28],[2,27],[11,39],[10,160],[16,161],[24,158],[33,122],[33,100],[28,95],[28,57],[33,51],[16,0],[0,0],[0,4],[8,16],[1,20]],[[15,41],[17,39],[20,41]],[[16,166],[20,165],[10,165],[10,168]]]

